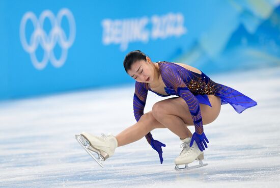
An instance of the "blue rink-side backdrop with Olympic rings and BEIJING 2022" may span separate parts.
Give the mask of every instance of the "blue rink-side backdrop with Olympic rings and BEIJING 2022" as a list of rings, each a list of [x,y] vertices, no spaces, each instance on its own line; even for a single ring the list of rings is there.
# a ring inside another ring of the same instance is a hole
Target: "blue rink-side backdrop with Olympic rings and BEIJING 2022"
[[[0,1],[0,99],[134,82],[141,49],[205,73],[280,64],[278,1]]]

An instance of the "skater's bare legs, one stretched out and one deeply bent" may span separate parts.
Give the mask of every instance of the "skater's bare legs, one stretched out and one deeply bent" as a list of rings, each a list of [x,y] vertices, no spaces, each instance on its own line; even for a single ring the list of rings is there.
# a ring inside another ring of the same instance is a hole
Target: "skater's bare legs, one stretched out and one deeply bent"
[[[212,108],[200,104],[204,124],[214,121],[220,112],[219,97],[208,97]],[[123,130],[116,138],[118,146],[123,146],[142,139],[155,128],[169,128],[184,139],[192,136],[187,125],[193,125],[193,121],[186,102],[181,97],[169,98],[155,103],[152,111],[144,114],[137,123]]]

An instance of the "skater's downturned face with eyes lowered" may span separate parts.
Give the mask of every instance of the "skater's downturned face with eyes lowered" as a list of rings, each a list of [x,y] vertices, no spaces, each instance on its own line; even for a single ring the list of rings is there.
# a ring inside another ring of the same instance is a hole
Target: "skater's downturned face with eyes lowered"
[[[153,63],[150,58],[136,61],[131,65],[127,73],[137,82],[151,83],[154,80]]]

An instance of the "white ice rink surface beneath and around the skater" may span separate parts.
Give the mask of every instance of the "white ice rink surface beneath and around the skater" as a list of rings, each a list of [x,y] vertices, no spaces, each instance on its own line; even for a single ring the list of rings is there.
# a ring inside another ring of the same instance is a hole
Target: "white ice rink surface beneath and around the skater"
[[[204,126],[208,166],[175,171],[181,142],[168,129],[152,131],[166,144],[162,165],[145,138],[117,148],[104,168],[94,162],[74,136],[134,124],[131,85],[1,102],[0,187],[280,187],[280,68],[209,76],[258,105],[242,114],[222,105]],[[149,92],[145,112],[162,99]]]

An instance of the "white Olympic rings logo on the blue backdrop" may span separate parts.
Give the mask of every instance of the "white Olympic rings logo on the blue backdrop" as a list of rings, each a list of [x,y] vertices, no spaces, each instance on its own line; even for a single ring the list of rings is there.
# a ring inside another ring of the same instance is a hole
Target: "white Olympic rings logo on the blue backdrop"
[[[67,18],[69,23],[68,38],[64,30],[61,28],[61,22],[64,16]],[[49,34],[43,30],[44,21],[46,18],[48,18],[51,23],[51,30]],[[25,26],[28,20],[31,20],[34,26],[34,32],[31,34],[29,42],[27,42],[25,35]],[[64,65],[67,59],[68,48],[72,46],[75,40],[75,19],[71,11],[66,8],[61,9],[57,17],[55,17],[50,10],[45,10],[41,13],[39,19],[37,19],[33,12],[26,12],[20,22],[19,34],[22,47],[26,52],[30,53],[31,61],[36,69],[44,69],[48,61],[50,61],[54,67],[59,68]],[[55,58],[53,52],[53,49],[57,43],[62,49],[61,57],[59,59]],[[36,50],[39,44],[44,50],[43,59],[40,62],[36,57]]]

